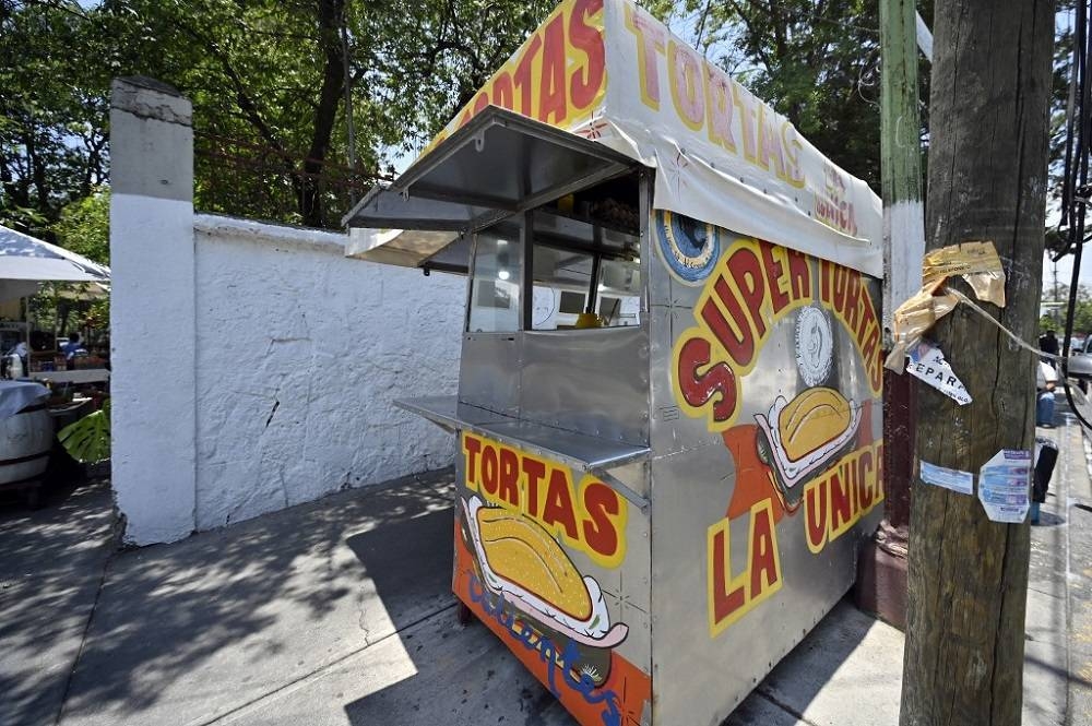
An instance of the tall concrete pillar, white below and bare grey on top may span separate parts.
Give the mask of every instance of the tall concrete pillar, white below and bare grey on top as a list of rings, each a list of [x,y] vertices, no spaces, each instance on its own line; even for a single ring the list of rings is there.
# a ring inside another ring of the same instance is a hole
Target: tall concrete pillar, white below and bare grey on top
[[[144,78],[110,98],[112,480],[127,543],[186,537],[195,510],[190,102]]]

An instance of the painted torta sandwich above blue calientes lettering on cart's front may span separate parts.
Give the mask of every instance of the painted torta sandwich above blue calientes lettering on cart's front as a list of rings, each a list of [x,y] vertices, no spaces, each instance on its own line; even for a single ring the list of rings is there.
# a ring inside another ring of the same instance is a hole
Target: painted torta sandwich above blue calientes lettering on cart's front
[[[580,644],[609,648],[629,632],[610,626],[603,591],[539,524],[515,512],[463,500],[482,581],[518,610]]]

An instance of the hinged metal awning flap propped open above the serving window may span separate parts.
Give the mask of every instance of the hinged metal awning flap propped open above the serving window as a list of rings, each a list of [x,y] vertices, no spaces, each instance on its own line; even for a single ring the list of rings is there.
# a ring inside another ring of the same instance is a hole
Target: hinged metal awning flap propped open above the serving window
[[[490,106],[390,186],[373,188],[343,223],[474,231],[636,164],[602,144]]]

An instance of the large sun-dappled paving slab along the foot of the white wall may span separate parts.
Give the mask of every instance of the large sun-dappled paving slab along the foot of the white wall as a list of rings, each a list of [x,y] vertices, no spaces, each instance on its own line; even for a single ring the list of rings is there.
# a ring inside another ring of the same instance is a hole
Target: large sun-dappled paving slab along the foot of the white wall
[[[450,608],[451,479],[119,554],[60,723],[212,723]]]

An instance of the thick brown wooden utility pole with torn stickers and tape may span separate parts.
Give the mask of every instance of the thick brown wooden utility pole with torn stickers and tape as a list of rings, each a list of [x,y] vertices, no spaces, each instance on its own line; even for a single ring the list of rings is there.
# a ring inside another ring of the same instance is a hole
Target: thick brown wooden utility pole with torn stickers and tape
[[[937,1],[926,246],[994,242],[1008,306],[983,307],[1024,341],[1042,285],[1053,33],[1051,0]],[[977,475],[1001,449],[1032,450],[1034,355],[965,306],[930,337],[974,401],[918,386],[918,462]],[[1026,523],[990,522],[976,497],[915,478],[902,726],[1020,723],[1028,548]]]

